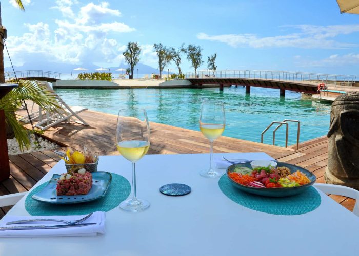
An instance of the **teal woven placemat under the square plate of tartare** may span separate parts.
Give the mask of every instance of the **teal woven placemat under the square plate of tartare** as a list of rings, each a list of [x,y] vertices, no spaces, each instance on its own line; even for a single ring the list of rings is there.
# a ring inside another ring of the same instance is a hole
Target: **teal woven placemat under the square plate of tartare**
[[[87,203],[57,205],[33,200],[36,194],[47,183],[39,185],[27,196],[25,209],[31,215],[83,215],[94,211],[109,211],[119,205],[130,195],[131,185],[123,176],[111,173],[112,180],[105,197]]]

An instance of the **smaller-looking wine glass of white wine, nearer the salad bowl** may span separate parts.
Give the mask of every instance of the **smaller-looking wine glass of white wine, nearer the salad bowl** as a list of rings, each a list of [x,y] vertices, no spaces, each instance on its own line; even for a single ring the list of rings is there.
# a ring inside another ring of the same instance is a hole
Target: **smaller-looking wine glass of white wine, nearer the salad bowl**
[[[200,116],[200,130],[211,143],[209,169],[202,170],[200,175],[209,178],[220,177],[221,174],[213,169],[213,141],[220,137],[226,125],[222,101],[204,100]]]

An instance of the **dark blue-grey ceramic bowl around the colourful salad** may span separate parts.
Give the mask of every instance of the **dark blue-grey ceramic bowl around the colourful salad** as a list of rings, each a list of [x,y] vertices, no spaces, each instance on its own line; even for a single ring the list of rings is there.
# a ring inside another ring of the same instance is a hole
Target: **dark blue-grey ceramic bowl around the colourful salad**
[[[265,196],[265,197],[288,197],[288,196],[297,195],[297,194],[300,194],[300,193],[304,192],[305,190],[307,190],[316,181],[315,175],[312,174],[311,172],[309,172],[309,170],[306,170],[306,169],[304,169],[302,167],[299,167],[299,166],[296,166],[296,165],[293,165],[293,164],[278,162],[277,167],[287,167],[287,168],[290,169],[291,173],[294,173],[297,170],[300,170],[302,173],[307,175],[310,182],[308,184],[305,184],[305,185],[299,186],[299,187],[275,187],[275,188],[248,187],[248,186],[238,184],[237,182],[233,181],[228,176],[228,171],[233,172],[235,167],[242,167],[242,166],[251,168],[250,163],[233,164],[233,165],[229,166],[227,168],[227,170],[226,170],[227,178],[230,180],[232,185],[235,186],[236,188],[241,189],[242,191],[245,191],[245,192],[248,192],[248,193],[251,193],[251,194],[259,195],[259,196]]]

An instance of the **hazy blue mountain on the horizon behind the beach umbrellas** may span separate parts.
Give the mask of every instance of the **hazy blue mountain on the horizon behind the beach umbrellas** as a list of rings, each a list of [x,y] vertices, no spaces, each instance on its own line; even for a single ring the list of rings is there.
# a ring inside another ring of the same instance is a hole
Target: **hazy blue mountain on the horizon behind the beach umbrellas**
[[[78,71],[78,70],[74,70],[76,68],[85,68],[87,70],[85,71]],[[116,69],[126,69],[128,66],[125,64],[119,65],[118,67],[111,67],[111,68],[107,68],[110,69],[110,71],[112,73],[124,73],[125,71],[116,71]],[[52,72],[58,72],[61,74],[66,74],[66,75],[70,75],[72,74],[77,74],[79,72],[95,72],[95,69],[98,69],[101,67],[98,67],[92,63],[88,63],[87,65],[76,65],[76,64],[67,64],[67,63],[55,63],[55,62],[50,62],[50,61],[46,61],[46,60],[42,60],[42,61],[34,61],[31,63],[24,63],[24,65],[22,66],[14,66],[15,71],[24,71],[24,70],[43,70],[43,71],[52,71]],[[151,66],[145,65],[143,63],[138,63],[134,70],[133,73],[136,75],[137,74],[137,69],[138,69],[138,74],[158,74],[159,70],[156,68],[153,68]],[[12,68],[11,67],[5,67],[5,72],[12,72]]]

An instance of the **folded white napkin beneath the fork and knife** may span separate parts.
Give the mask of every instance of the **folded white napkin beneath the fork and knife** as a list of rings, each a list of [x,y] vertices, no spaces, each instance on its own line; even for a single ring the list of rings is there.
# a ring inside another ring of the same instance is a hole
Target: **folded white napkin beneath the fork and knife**
[[[5,215],[0,221],[0,227],[11,226],[54,226],[63,225],[62,222],[31,222],[27,224],[12,224],[6,225],[9,221],[28,220],[28,219],[59,219],[59,220],[79,220],[86,215],[66,215],[66,216],[11,216]],[[57,229],[30,229],[30,230],[0,230],[0,237],[73,237],[73,236],[96,236],[97,233],[105,233],[105,219],[104,211],[94,212],[87,220],[82,223],[96,223],[95,225],[88,225],[83,227],[67,227]]]

